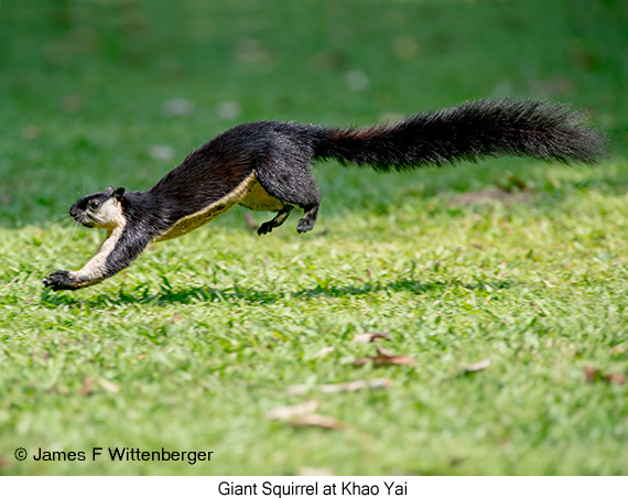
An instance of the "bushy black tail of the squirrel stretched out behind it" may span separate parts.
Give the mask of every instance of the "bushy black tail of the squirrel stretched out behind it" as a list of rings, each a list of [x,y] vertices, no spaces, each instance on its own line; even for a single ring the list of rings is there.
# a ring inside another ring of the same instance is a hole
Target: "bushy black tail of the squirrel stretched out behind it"
[[[595,163],[604,145],[604,137],[567,106],[504,99],[465,102],[393,124],[324,129],[315,156],[382,171],[497,155]]]

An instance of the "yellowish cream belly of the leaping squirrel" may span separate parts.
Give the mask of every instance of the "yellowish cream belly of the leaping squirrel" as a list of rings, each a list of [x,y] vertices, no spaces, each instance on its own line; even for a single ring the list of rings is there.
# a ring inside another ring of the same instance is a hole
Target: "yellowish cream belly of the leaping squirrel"
[[[255,173],[251,173],[225,197],[212,203],[197,213],[181,218],[167,230],[155,237],[153,241],[161,242],[188,234],[226,213],[236,204],[241,204],[255,210],[278,212],[283,208],[283,204],[271,197],[258,183]]]

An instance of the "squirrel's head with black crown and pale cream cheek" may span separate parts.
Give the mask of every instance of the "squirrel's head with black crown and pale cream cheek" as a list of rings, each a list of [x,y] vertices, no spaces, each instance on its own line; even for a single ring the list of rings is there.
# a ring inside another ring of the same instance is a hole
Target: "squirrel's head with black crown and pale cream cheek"
[[[69,216],[88,228],[112,230],[124,226],[126,204],[124,188],[107,187],[102,192],[79,198],[69,208]]]

